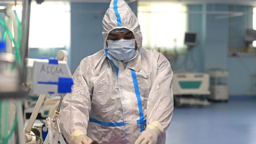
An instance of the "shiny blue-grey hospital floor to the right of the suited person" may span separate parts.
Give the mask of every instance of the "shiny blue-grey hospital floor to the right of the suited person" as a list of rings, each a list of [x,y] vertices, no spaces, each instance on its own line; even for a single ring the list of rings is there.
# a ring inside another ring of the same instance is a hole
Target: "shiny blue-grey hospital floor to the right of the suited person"
[[[166,144],[256,144],[256,97],[174,108]]]

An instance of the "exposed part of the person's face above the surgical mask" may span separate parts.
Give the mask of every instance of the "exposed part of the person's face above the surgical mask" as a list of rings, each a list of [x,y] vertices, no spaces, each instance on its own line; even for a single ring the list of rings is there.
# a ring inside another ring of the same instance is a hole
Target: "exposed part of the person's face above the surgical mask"
[[[107,38],[107,40],[113,40],[113,41],[117,41],[121,39],[135,39],[135,37],[132,31],[125,31],[121,33],[109,33]],[[107,46],[108,46],[108,42],[107,42]],[[134,49],[137,50],[137,48],[138,48],[138,45],[137,45],[137,42],[135,41]]]

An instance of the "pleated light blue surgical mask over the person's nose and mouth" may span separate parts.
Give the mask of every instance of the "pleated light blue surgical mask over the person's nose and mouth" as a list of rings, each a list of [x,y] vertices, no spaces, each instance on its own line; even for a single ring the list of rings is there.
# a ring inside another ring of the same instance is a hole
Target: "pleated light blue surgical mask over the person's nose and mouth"
[[[134,50],[135,39],[107,40],[108,54],[120,61],[128,61],[137,54]]]

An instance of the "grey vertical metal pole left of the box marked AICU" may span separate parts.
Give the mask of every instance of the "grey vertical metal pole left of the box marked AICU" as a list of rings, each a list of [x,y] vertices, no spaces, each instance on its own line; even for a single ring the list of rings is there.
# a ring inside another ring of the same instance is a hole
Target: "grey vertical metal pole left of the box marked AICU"
[[[22,39],[20,44],[22,83],[26,83],[26,65],[28,57],[28,35],[30,25],[31,0],[22,0]]]

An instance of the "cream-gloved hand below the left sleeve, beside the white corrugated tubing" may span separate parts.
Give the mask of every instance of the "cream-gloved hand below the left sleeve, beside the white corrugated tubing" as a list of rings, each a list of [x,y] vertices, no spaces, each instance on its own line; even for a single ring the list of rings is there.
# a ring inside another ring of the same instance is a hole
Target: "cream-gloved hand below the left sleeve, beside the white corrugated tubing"
[[[93,140],[86,137],[81,130],[76,130],[71,134],[71,144],[91,144]]]

